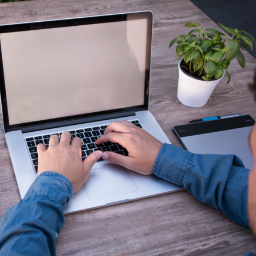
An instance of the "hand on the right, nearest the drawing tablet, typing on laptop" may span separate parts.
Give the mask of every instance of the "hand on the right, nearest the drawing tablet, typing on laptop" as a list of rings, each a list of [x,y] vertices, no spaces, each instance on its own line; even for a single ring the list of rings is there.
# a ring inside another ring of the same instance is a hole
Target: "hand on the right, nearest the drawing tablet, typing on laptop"
[[[120,164],[129,170],[140,174],[152,174],[156,156],[162,143],[145,130],[128,122],[114,121],[104,132],[104,135],[95,141],[96,144],[111,141],[119,143],[127,149],[128,156],[115,152],[104,152],[102,158],[111,163]]]

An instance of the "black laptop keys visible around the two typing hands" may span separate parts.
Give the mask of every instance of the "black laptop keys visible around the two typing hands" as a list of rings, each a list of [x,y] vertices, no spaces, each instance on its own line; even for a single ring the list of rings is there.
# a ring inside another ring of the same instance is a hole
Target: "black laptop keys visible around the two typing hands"
[[[133,120],[131,123],[135,124],[137,127],[141,127],[139,120]],[[100,150],[102,152],[105,151],[112,151],[119,153],[121,155],[128,156],[128,151],[121,145],[117,143],[102,143],[100,145],[96,145],[94,142],[98,139],[99,136],[104,134],[105,129],[108,127],[109,124],[101,125],[97,127],[86,127],[83,129],[77,129],[69,131],[71,133],[71,140],[74,137],[80,137],[82,140],[82,161],[90,155],[90,153]],[[49,146],[50,136],[56,134],[61,137],[61,133],[50,133],[44,134],[40,136],[34,137],[25,137],[27,149],[30,154],[31,163],[33,165],[34,171],[37,173],[38,168],[38,154],[37,154],[37,145],[40,143],[45,144],[47,147]],[[97,162],[104,161],[101,157]]]

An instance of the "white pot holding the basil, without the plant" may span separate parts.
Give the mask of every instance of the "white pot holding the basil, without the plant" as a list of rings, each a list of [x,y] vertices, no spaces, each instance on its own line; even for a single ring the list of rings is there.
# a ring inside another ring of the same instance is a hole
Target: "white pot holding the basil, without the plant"
[[[224,76],[225,70],[222,77],[218,80],[204,81],[198,78],[189,76],[181,68],[181,60],[179,62],[179,81],[178,81],[178,92],[177,98],[183,105],[193,108],[203,107],[207,100],[210,98],[215,86],[218,84],[220,79]]]

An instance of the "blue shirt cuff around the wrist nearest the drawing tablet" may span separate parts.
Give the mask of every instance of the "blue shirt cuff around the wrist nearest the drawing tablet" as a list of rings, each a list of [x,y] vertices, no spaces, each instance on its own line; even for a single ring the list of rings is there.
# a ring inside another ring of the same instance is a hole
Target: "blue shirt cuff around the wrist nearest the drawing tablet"
[[[160,149],[152,173],[179,186],[194,154],[172,144],[164,143]]]

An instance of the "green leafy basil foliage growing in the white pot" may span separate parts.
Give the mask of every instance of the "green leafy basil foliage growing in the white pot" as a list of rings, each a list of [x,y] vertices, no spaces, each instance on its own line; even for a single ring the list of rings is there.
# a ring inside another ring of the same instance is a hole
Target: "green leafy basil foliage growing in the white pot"
[[[186,36],[180,35],[174,38],[169,48],[175,43],[178,44],[176,53],[179,57],[175,60],[184,56],[182,68],[191,76],[211,81],[222,77],[225,69],[227,84],[229,84],[230,73],[227,68],[230,61],[237,57],[239,65],[245,68],[245,56],[241,50],[249,47],[253,50],[253,43],[256,45],[256,41],[246,31],[219,25],[219,29],[222,28],[227,32],[226,35],[216,29],[203,29],[194,22],[187,23],[184,26],[199,27],[199,29],[192,29]],[[199,33],[199,36],[197,37],[194,33]],[[232,35],[231,38],[228,38],[229,34]]]

